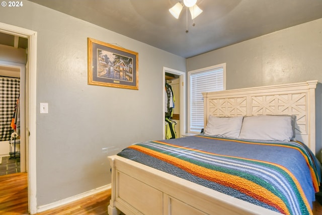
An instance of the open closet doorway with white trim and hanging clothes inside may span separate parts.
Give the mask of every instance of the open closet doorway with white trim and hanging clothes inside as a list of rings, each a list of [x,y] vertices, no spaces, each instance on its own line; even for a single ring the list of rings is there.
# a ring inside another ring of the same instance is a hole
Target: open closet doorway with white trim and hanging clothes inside
[[[175,125],[177,137],[182,137],[182,135],[186,131],[186,73],[183,71],[179,71],[172,68],[164,67],[164,73],[163,73],[163,86],[168,83],[171,85],[173,89],[173,93],[175,96],[175,108],[173,109],[173,121],[175,121],[177,124]],[[163,101],[166,99],[166,91],[163,89]],[[166,118],[166,108],[164,105],[164,111],[163,111],[163,118]],[[163,137],[166,138],[166,128],[165,128],[165,121],[163,122]]]

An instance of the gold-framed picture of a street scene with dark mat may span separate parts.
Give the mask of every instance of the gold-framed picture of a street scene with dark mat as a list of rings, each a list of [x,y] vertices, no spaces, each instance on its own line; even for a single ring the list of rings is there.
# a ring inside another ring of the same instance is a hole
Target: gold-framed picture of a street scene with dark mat
[[[138,90],[138,53],[88,38],[88,84]]]

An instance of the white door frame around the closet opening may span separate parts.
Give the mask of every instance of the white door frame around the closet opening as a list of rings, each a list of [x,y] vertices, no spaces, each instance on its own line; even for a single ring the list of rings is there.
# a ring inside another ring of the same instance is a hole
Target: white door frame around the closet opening
[[[184,71],[168,68],[168,67],[163,67],[163,102],[165,101],[166,98],[166,93],[165,93],[165,85],[166,85],[166,73],[174,74],[179,76],[179,85],[181,86],[180,88],[180,134],[181,136],[186,133],[186,73]],[[165,114],[165,105],[163,105],[163,119],[165,119],[166,114]],[[163,120],[163,138],[165,139],[165,121]]]

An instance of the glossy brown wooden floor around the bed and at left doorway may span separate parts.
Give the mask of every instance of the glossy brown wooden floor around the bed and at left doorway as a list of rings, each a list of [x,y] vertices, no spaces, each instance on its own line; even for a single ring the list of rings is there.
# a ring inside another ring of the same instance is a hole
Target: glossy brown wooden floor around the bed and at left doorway
[[[28,214],[27,173],[0,176],[0,187],[0,214]],[[37,215],[107,215],[110,199],[111,191],[107,190]],[[313,214],[322,215],[322,205],[317,201]]]

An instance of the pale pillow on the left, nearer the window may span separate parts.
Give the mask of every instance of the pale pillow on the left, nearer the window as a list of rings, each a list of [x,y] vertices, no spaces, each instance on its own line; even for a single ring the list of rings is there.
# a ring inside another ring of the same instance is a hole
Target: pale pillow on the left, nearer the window
[[[243,116],[215,117],[209,115],[205,134],[211,136],[238,138]]]

